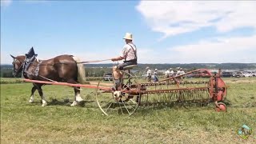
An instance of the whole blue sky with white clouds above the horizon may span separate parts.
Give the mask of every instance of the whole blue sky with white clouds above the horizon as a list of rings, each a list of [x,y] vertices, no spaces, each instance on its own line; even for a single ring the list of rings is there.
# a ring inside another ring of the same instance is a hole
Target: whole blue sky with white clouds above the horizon
[[[31,46],[42,59],[113,58],[126,32],[134,35],[139,63],[256,62],[255,7],[253,1],[1,0],[1,63]]]

